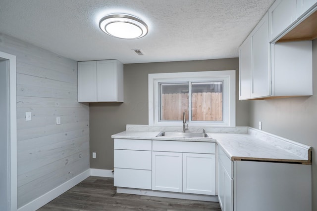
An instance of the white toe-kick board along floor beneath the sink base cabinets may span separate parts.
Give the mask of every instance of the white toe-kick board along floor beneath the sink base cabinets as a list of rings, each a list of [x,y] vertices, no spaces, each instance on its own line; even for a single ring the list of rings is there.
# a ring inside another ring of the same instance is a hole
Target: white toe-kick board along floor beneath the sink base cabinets
[[[207,201],[207,202],[218,202],[217,196],[189,194],[189,193],[175,193],[175,192],[155,191],[155,190],[143,190],[143,189],[134,189],[134,188],[117,187],[117,193],[167,197],[167,198],[174,198],[174,199],[188,199],[188,200],[198,200],[198,201]]]

